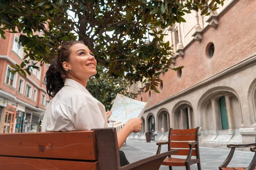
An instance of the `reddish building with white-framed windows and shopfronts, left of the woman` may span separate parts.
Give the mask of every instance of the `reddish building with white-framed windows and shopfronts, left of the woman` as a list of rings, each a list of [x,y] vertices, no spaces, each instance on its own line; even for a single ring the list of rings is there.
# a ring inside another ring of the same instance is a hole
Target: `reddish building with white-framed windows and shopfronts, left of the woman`
[[[40,33],[38,33],[40,34]],[[0,38],[0,133],[41,131],[41,120],[49,97],[43,84],[48,66],[33,64],[40,70],[24,77],[13,74],[11,65],[20,64],[24,58],[19,34],[6,32],[6,39]]]

